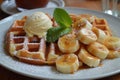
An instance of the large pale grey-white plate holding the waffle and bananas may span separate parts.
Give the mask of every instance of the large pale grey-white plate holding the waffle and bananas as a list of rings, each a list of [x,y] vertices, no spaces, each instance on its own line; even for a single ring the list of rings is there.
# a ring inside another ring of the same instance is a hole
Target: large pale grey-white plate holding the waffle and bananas
[[[120,19],[96,12],[91,10],[85,10],[85,9],[79,9],[79,8],[64,8],[69,13],[75,13],[75,14],[93,14],[101,18],[105,18],[108,21],[108,24],[110,25],[111,30],[116,36],[120,37]],[[49,14],[52,14],[54,11],[54,8],[41,8],[41,9],[35,9],[31,11],[22,12],[19,14],[15,14],[13,16],[10,16],[6,19],[3,19],[0,21],[0,64],[14,72],[20,73],[22,75],[26,75],[29,77],[34,78],[44,78],[44,79],[96,79],[96,78],[102,78],[106,76],[110,76],[116,73],[120,72],[120,58],[113,59],[113,60],[105,60],[102,62],[102,66],[96,67],[96,68],[89,68],[84,70],[79,70],[74,74],[62,74],[59,73],[55,67],[51,66],[36,66],[36,65],[30,65],[23,62],[19,62],[13,58],[11,58],[9,55],[7,55],[4,51],[4,39],[5,39],[5,33],[11,26],[14,20],[21,19],[25,15],[30,15],[33,12],[36,11],[43,11]]]

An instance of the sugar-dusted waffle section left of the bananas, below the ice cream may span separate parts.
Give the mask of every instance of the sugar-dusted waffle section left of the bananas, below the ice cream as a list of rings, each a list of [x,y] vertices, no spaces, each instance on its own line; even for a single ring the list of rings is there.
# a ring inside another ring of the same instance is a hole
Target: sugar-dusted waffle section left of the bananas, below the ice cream
[[[27,37],[23,30],[25,20],[16,20],[6,37],[7,50],[11,56],[32,64],[52,64],[58,57],[55,43],[47,44],[44,38]],[[59,50],[57,50],[58,52]]]

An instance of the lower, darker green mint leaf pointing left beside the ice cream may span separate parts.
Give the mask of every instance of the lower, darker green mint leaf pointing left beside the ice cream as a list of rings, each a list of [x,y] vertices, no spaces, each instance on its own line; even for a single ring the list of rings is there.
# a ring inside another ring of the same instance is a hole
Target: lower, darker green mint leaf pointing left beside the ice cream
[[[47,31],[47,42],[55,42],[60,36],[71,31],[71,28],[55,27]]]

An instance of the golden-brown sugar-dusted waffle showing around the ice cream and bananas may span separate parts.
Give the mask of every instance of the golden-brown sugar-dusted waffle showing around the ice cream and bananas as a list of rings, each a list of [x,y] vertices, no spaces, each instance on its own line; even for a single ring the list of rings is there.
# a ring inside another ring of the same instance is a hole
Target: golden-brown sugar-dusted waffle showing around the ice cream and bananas
[[[16,20],[11,26],[11,28],[9,29],[9,31],[7,32],[7,36],[6,36],[7,52],[11,56],[17,57],[21,61],[27,62],[27,63],[48,64],[48,65],[55,64],[56,59],[59,56],[64,55],[59,50],[57,42],[47,43],[44,38],[39,38],[38,36],[35,36],[35,35],[33,37],[28,37],[26,32],[23,29],[26,18],[27,17],[25,16],[21,20]],[[83,14],[79,16],[71,15],[71,18],[73,20],[74,26],[78,28],[79,26],[77,21],[79,22],[81,18],[85,18],[92,24],[93,32],[94,32],[94,29],[101,29],[107,35],[110,35],[110,36],[112,35],[106,20],[103,18],[97,18],[91,15],[89,16],[89,15],[83,15]],[[53,25],[56,25],[56,23],[54,22]],[[80,30],[80,29],[77,29],[77,30]],[[73,30],[73,34],[74,33],[76,32]],[[83,45],[84,49],[87,48],[86,45],[81,43],[80,41],[79,41],[79,45]],[[89,44],[87,46],[89,46]],[[80,52],[80,49],[78,49],[75,52],[77,57],[79,57],[78,54]],[[85,56],[85,54],[83,54],[82,56]]]

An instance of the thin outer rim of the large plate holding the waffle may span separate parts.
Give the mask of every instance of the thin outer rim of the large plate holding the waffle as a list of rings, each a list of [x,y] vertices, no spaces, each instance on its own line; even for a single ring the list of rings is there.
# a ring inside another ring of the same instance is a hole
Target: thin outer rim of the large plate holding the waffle
[[[46,9],[46,8],[41,8],[41,10],[42,9]],[[48,8],[47,8],[48,9]],[[54,8],[50,8],[50,9],[54,9]],[[89,10],[89,9],[82,9],[82,8],[76,8],[76,7],[64,7],[64,9],[81,9],[81,10],[87,10],[87,11],[93,11],[93,12],[97,12],[97,13],[102,13],[102,12],[98,12],[98,11],[94,11],[94,10]],[[40,10],[40,9],[34,9],[34,10]],[[29,11],[27,11],[27,12],[30,12],[30,11],[34,11],[34,10],[29,10]],[[9,18],[12,18],[12,17],[15,17],[15,16],[18,16],[18,15],[20,15],[20,14],[23,14],[24,12],[21,12],[21,13],[17,13],[17,14],[14,14],[14,15],[12,15],[12,16],[9,16],[9,17],[7,17],[7,18],[5,18],[5,19],[2,19],[1,21],[0,21],[0,25],[1,25],[1,22],[2,21],[5,21],[6,19],[9,19]],[[104,13],[102,13],[102,14],[104,14]],[[111,16],[111,15],[108,15],[108,14],[104,14],[104,15],[107,15],[107,16]],[[112,16],[113,18],[116,18],[116,17],[114,17],[114,16]],[[120,20],[119,18],[116,18],[116,19],[118,19],[118,20]],[[41,76],[33,76],[33,75],[31,75],[31,74],[27,74],[27,73],[24,73],[24,72],[20,72],[20,71],[17,71],[17,69],[13,69],[13,68],[10,68],[9,66],[5,66],[4,64],[2,64],[1,62],[0,62],[0,65],[1,66],[3,66],[3,67],[5,67],[5,68],[7,68],[7,69],[9,69],[9,70],[11,70],[11,71],[13,71],[13,72],[15,72],[15,73],[19,73],[19,74],[21,74],[21,75],[25,75],[25,76],[28,76],[28,77],[32,77],[32,78],[37,78],[37,79],[49,79],[49,78],[45,78],[45,77],[41,77]],[[111,75],[113,75],[113,74],[117,74],[117,73],[119,73],[120,72],[120,70],[118,70],[118,71],[114,71],[114,72],[111,72],[111,73],[103,73],[104,75],[102,75],[102,76],[96,76],[96,77],[94,77],[94,78],[91,78],[91,79],[98,79],[98,78],[103,78],[103,77],[106,77],[106,76],[111,76]],[[55,78],[50,78],[50,79],[55,79]],[[84,78],[83,78],[84,79]],[[86,78],[85,78],[86,79]],[[89,78],[90,79],[90,78]]]

